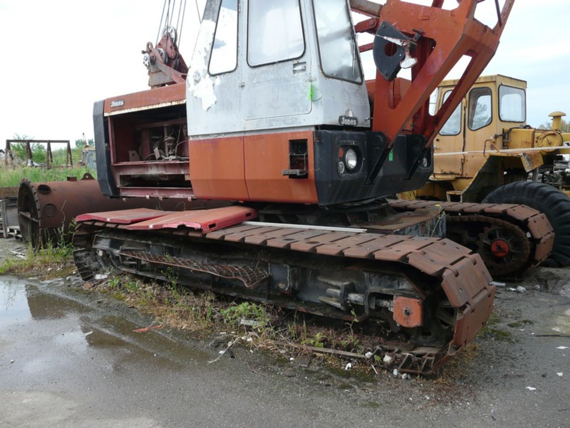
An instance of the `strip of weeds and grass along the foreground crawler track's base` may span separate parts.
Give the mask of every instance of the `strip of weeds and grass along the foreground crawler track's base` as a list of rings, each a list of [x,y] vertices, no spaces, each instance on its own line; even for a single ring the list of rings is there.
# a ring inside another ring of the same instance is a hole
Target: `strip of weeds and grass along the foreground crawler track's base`
[[[364,341],[351,328],[343,331],[330,326],[307,325],[304,317],[298,320],[296,314],[284,314],[282,310],[270,305],[251,301],[227,300],[211,292],[193,292],[177,284],[177,274],[172,268],[166,268],[162,275],[166,281],[144,281],[129,274],[112,276],[107,281],[95,284],[92,290],[108,293],[129,306],[152,314],[157,322],[172,328],[187,330],[198,336],[211,336],[215,333],[233,330],[235,337],[247,336],[248,346],[258,349],[270,349],[276,352],[283,346],[299,353],[304,346],[333,348],[352,352],[364,352]],[[241,320],[254,321],[243,325]],[[228,329],[229,328],[229,329]],[[278,342],[280,345],[275,345]],[[283,345],[287,344],[287,345]],[[345,362],[329,356],[333,365],[344,368]],[[369,366],[367,366],[369,368]]]

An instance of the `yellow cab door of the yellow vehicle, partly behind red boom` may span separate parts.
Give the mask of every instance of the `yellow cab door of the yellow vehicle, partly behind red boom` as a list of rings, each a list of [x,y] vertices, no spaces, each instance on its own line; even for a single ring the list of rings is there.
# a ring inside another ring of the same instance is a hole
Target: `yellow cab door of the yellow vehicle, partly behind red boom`
[[[452,90],[453,87],[443,88],[441,96],[438,97],[440,107]],[[465,100],[462,100],[434,139],[433,173],[436,178],[441,175],[462,174],[465,159],[465,155],[461,154],[465,148],[465,104]]]

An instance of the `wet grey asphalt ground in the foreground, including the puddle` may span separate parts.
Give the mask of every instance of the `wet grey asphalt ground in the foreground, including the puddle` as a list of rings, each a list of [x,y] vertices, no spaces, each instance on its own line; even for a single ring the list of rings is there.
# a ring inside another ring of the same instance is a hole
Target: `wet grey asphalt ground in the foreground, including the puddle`
[[[556,349],[570,347],[570,286],[498,297],[501,322],[534,324],[501,324],[513,341],[483,338],[445,385],[302,369],[246,348],[209,364],[209,341],[133,332],[153,320],[120,302],[0,276],[0,427],[570,426],[570,349]]]

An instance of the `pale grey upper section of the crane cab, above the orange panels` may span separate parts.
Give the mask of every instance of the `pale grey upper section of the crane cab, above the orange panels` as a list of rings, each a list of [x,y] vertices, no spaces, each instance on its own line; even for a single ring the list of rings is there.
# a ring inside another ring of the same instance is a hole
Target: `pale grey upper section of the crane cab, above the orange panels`
[[[209,1],[188,76],[186,105],[196,136],[370,127],[345,0]]]

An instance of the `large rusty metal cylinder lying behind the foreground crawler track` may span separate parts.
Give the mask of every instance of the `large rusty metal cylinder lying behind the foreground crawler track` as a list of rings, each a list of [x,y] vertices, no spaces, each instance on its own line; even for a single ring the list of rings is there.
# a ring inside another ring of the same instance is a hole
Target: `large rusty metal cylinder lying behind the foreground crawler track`
[[[210,208],[211,204],[213,202],[203,200],[109,199],[101,194],[99,183],[89,174],[75,181],[31,183],[23,180],[18,190],[18,223],[22,240],[41,248],[48,242],[58,245],[71,241],[75,217],[87,212],[132,208],[180,211]]]

